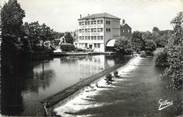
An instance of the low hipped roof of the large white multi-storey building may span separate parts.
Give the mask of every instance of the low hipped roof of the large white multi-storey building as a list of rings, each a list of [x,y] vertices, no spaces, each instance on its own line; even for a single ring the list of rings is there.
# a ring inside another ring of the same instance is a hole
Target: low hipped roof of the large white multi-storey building
[[[92,14],[92,15],[88,15],[86,17],[80,18],[79,20],[82,19],[92,19],[92,18],[111,18],[111,19],[119,19],[118,17],[111,15],[109,13],[97,13],[97,14]]]

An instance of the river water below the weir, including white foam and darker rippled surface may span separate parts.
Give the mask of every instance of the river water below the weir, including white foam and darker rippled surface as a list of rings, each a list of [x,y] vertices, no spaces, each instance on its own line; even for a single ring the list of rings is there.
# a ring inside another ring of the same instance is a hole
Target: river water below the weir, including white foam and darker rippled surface
[[[64,117],[182,117],[183,91],[160,80],[154,58],[136,56],[107,84],[101,77],[54,109]]]

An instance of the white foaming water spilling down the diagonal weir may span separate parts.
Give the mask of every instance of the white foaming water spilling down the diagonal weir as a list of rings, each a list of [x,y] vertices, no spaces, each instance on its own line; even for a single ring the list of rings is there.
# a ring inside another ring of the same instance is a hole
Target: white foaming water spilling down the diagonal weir
[[[78,94],[76,94],[72,99],[68,100],[64,104],[54,109],[57,115],[61,115],[64,117],[71,117],[72,114],[80,110],[84,110],[87,108],[100,107],[104,105],[110,105],[111,102],[108,103],[95,103],[95,99],[92,98],[95,95],[99,95],[102,90],[109,90],[110,88],[117,88],[118,86],[115,83],[123,82],[128,80],[127,75],[130,72],[133,72],[138,65],[140,64],[142,58],[137,55],[133,57],[126,65],[117,69],[120,78],[113,78],[112,84],[107,84],[105,77],[101,77],[97,81],[94,81],[90,84],[90,86],[84,87]],[[113,102],[114,103],[114,102]],[[74,115],[76,116],[76,115]],[[86,117],[91,115],[79,115],[79,117]]]

